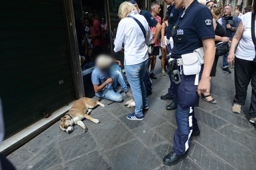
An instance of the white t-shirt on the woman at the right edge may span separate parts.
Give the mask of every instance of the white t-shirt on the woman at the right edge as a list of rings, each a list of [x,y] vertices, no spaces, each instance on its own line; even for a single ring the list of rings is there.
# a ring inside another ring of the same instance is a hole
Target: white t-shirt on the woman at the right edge
[[[246,61],[253,61],[253,58],[255,58],[255,47],[251,37],[251,15],[251,12],[247,12],[241,17],[242,24],[244,25],[244,33],[238,44],[238,50],[236,50],[236,57]]]

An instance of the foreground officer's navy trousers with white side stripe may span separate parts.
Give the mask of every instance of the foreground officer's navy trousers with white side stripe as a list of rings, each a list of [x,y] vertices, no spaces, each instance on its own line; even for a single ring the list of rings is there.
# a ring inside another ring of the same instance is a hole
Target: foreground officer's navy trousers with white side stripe
[[[177,129],[173,137],[173,150],[176,154],[182,155],[190,146],[190,137],[193,126],[197,126],[194,107],[199,105],[197,86],[201,79],[201,71],[198,75],[182,75],[179,85],[173,83],[175,101],[177,101],[176,122]]]

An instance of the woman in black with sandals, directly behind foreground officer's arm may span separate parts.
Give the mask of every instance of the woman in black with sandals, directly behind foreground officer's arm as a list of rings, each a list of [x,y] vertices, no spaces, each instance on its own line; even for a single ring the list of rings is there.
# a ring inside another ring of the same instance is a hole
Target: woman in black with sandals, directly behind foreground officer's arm
[[[213,25],[214,25],[214,31],[215,31],[215,44],[219,43],[219,42],[227,42],[229,41],[229,37],[223,37],[225,35],[225,30],[223,29],[223,27],[221,26],[221,24],[218,23],[218,19],[221,18],[222,14],[223,14],[223,5],[221,5],[221,3],[215,3],[214,5],[212,5],[211,8],[211,12],[212,12],[212,17],[213,17]],[[212,79],[212,77],[215,77],[216,75],[216,67],[217,67],[217,63],[218,63],[218,57],[215,54],[215,58],[214,58],[214,64],[212,65],[212,71],[210,73],[210,78]],[[203,92],[202,95],[202,99],[204,101],[207,101],[208,103],[212,103],[212,104],[216,104],[217,101],[214,100],[212,98],[212,96],[210,95],[210,92]]]

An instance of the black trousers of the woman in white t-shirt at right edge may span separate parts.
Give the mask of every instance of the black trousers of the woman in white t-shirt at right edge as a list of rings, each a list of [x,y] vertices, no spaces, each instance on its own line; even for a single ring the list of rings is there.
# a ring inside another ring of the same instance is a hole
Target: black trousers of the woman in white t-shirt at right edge
[[[235,62],[235,103],[244,105],[247,95],[248,84],[251,82],[251,106],[249,114],[256,117],[256,64],[236,57]]]

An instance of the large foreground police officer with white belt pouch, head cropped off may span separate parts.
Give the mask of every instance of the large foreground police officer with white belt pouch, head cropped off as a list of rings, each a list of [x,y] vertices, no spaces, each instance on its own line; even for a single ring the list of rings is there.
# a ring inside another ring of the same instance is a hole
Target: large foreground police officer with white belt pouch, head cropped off
[[[165,165],[179,163],[187,154],[193,131],[199,131],[194,107],[199,105],[201,93],[210,92],[210,71],[215,55],[215,33],[208,7],[197,0],[175,0],[175,7],[184,7],[184,10],[173,27],[174,46],[171,57],[177,60],[182,58],[183,54],[193,53],[203,47],[204,65],[201,65],[201,71],[194,75],[184,75],[184,67],[180,66],[181,82],[178,85],[173,84],[178,101],[175,114],[177,129],[173,137],[173,150],[162,160]]]

